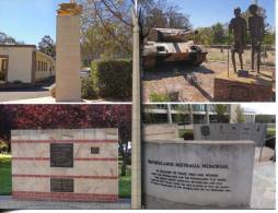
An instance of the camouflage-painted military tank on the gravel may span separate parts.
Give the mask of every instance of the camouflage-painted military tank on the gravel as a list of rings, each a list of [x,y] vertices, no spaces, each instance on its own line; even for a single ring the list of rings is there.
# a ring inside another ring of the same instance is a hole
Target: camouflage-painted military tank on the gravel
[[[207,57],[207,51],[195,45],[189,37],[197,31],[176,28],[151,28],[143,46],[142,59],[144,68],[165,63],[188,63],[200,66]]]

